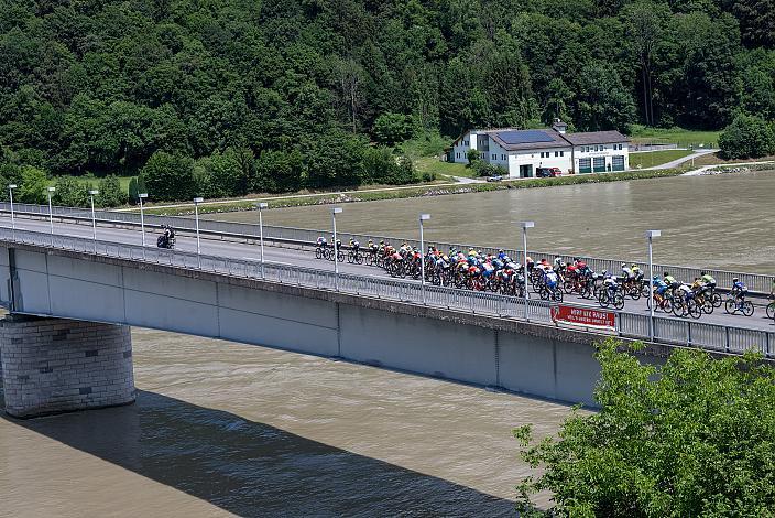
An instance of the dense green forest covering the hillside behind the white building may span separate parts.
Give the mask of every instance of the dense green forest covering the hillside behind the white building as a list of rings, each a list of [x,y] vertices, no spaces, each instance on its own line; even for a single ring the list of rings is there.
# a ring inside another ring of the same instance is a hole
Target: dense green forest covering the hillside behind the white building
[[[0,180],[401,184],[401,142],[471,127],[772,121],[774,45],[762,0],[2,0]]]

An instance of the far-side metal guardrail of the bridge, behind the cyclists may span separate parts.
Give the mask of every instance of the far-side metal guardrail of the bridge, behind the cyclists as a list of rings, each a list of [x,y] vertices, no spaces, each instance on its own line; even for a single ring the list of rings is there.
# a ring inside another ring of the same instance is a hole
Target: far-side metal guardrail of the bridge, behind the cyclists
[[[32,204],[13,204],[13,208],[19,214],[48,216],[47,205],[32,205]],[[10,204],[8,202],[0,203],[0,212],[10,212]],[[74,219],[88,219],[91,220],[91,212],[83,208],[73,207],[53,207],[53,214],[59,217],[67,217]],[[117,213],[112,211],[96,211],[96,217],[99,222],[109,222],[116,224],[125,225],[140,225],[140,215],[135,213]],[[170,225],[179,230],[193,231],[196,227],[194,218],[182,217],[182,216],[145,216],[145,224],[151,227],[160,227],[161,225]],[[230,222],[216,222],[212,219],[199,218],[199,229],[203,233],[216,234],[231,237],[242,237],[255,239],[259,237],[260,228],[258,224],[247,224],[247,223],[230,223]],[[272,225],[264,225],[264,239],[271,241],[284,241],[284,242],[296,242],[301,245],[312,245],[314,244],[318,236],[328,236],[330,230],[318,230],[318,229],[306,229],[306,228],[293,228],[293,227],[279,227]],[[340,231],[342,236],[342,241],[347,241],[349,237],[353,237],[361,244],[365,244],[369,239],[373,239],[374,242],[379,242],[380,239],[384,239],[388,242],[399,244],[406,241],[413,247],[419,246],[419,240],[417,239],[405,239],[389,236],[379,236],[373,234],[358,234],[358,233],[346,233]],[[451,242],[439,242],[439,241],[426,241],[426,244],[433,244],[439,249],[447,250],[455,248],[458,250],[468,250],[469,247],[481,250],[484,253],[498,253],[499,248],[495,247],[477,247],[465,244],[451,244]],[[523,261],[523,252],[516,249],[505,249],[504,251],[509,253],[517,262]],[[594,271],[609,270],[618,272],[620,270],[621,263],[635,263],[641,267],[644,272],[647,272],[648,265],[642,261],[630,261],[622,259],[604,259],[597,257],[585,257],[585,256],[569,256],[566,253],[554,253],[541,250],[528,250],[528,256],[533,257],[535,260],[539,258],[547,258],[553,260],[556,257],[561,258],[566,262],[571,262],[574,257],[580,257],[582,260],[589,265],[589,267]],[[734,272],[728,270],[713,270],[706,268],[691,268],[681,267],[675,265],[662,265],[654,263],[654,271],[663,272],[668,271],[673,277],[684,281],[691,281],[696,277],[700,277],[702,271],[707,271],[713,276],[718,282],[719,287],[731,287],[732,279],[739,278],[749,287],[749,291],[752,294],[768,294],[775,276],[766,276],[760,273],[746,273],[746,272]]]

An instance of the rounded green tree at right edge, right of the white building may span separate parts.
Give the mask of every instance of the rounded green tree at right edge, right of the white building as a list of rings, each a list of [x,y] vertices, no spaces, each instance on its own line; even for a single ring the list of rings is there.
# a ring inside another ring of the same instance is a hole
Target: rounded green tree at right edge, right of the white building
[[[728,159],[755,159],[775,153],[773,125],[761,117],[739,115],[719,137]]]

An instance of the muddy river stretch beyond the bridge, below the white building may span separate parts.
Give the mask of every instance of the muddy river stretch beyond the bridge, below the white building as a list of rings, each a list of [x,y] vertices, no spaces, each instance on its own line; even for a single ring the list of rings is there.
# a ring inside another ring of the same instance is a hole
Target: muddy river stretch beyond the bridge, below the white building
[[[646,259],[644,231],[661,229],[655,262],[775,273],[775,173],[675,176],[552,188],[509,190],[342,204],[337,227],[417,238],[522,248],[516,223],[535,220],[531,249]],[[206,217],[255,223],[253,212]],[[329,206],[273,209],[264,223],[330,233]]]

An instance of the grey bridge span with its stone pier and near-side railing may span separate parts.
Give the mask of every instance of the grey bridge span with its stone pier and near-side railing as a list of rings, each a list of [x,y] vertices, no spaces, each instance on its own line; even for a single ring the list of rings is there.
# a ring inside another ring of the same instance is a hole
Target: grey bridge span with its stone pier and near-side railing
[[[78,237],[88,227],[58,222],[47,234],[41,225],[47,222],[0,228],[0,303],[11,312],[0,327],[0,365],[13,416],[133,401],[129,326],[593,404],[592,343],[604,335],[553,324],[541,301],[530,301],[524,321],[520,299],[427,287],[424,304],[417,282],[261,265],[242,242],[207,241],[197,255],[184,251],[195,247],[186,236],[184,250],[170,251],[129,245],[137,229],[101,228],[92,240]],[[647,324],[621,314],[614,334],[644,337]],[[651,361],[687,344],[768,354],[773,339],[769,331],[657,324],[662,343],[643,353]]]

